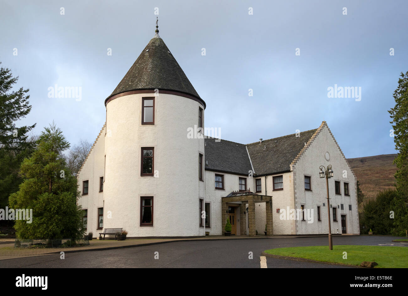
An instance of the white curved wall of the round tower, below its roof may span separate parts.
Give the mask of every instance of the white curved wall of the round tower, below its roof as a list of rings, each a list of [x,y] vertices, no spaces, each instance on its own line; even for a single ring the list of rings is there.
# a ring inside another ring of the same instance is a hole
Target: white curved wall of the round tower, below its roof
[[[187,128],[198,122],[200,103],[182,96],[155,97],[155,124],[141,124],[142,97],[131,94],[106,105],[105,228],[125,228],[128,237],[197,236],[199,198],[204,182],[198,179],[198,154],[204,139],[188,139]],[[140,176],[141,147],[154,147],[158,178]],[[205,158],[204,158],[205,163]],[[205,178],[205,174],[204,174]],[[205,179],[204,179],[205,180]],[[153,196],[154,226],[140,226],[140,197]]]

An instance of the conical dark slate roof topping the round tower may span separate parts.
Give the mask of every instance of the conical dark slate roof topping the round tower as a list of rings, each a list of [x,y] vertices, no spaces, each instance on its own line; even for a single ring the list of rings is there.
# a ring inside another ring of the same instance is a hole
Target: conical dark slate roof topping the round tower
[[[159,93],[160,90],[168,90],[193,96],[205,107],[204,101],[157,33],[106,99],[105,104],[116,94],[132,90],[155,90],[156,88]]]

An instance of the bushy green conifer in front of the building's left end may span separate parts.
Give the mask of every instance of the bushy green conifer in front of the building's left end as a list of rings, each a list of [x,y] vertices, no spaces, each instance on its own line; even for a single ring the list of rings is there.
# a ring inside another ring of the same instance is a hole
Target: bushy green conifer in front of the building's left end
[[[41,133],[30,158],[24,159],[20,174],[24,182],[10,195],[10,207],[33,209],[32,223],[16,220],[20,239],[82,237],[82,211],[77,180],[67,168],[63,151],[69,143],[53,123]]]

